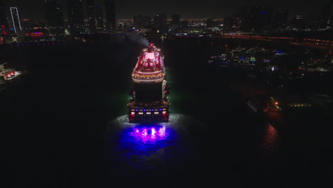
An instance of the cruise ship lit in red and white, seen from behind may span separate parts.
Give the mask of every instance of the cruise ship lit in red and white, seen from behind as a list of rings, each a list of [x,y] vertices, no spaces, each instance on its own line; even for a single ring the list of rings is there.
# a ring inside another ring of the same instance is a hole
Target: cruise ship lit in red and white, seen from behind
[[[129,122],[168,122],[170,103],[164,55],[154,43],[142,49],[132,80],[131,99],[127,104]]]

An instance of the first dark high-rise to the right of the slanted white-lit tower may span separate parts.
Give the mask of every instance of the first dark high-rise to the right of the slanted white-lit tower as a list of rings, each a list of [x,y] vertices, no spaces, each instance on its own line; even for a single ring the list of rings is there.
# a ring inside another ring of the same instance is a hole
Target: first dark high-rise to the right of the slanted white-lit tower
[[[46,26],[48,28],[63,27],[63,9],[56,0],[44,0]]]

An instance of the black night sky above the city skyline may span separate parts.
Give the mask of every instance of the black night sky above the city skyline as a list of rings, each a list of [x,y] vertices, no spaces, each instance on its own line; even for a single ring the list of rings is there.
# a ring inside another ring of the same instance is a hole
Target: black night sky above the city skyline
[[[7,6],[17,6],[21,19],[43,18],[43,0],[3,0]],[[58,0],[66,10],[65,1]],[[95,0],[96,5],[102,5],[103,0]],[[302,15],[318,16],[327,0],[279,0],[279,1],[246,1],[246,0],[119,0],[116,1],[117,19],[132,19],[134,14],[147,14],[154,16],[165,12],[168,18],[172,13],[181,14],[181,19],[206,19],[223,18],[238,10],[238,6],[274,6],[275,11],[280,11],[284,6],[290,7],[290,16]],[[249,8],[248,8],[249,9]],[[332,14],[332,13],[331,13]],[[66,14],[64,15],[66,18]]]

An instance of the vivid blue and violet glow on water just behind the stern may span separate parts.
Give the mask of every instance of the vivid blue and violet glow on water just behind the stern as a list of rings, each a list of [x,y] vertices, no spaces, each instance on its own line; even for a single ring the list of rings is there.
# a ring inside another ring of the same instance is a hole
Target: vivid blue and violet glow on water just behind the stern
[[[117,148],[119,169],[124,165],[132,169],[150,170],[174,157],[176,135],[173,130],[162,125],[137,125],[120,132],[120,145]]]

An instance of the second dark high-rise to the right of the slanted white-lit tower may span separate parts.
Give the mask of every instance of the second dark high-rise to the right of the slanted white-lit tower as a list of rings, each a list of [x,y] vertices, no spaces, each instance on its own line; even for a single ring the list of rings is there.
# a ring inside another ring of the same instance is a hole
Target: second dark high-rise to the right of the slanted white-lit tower
[[[83,0],[67,0],[68,22],[71,28],[83,26]]]

